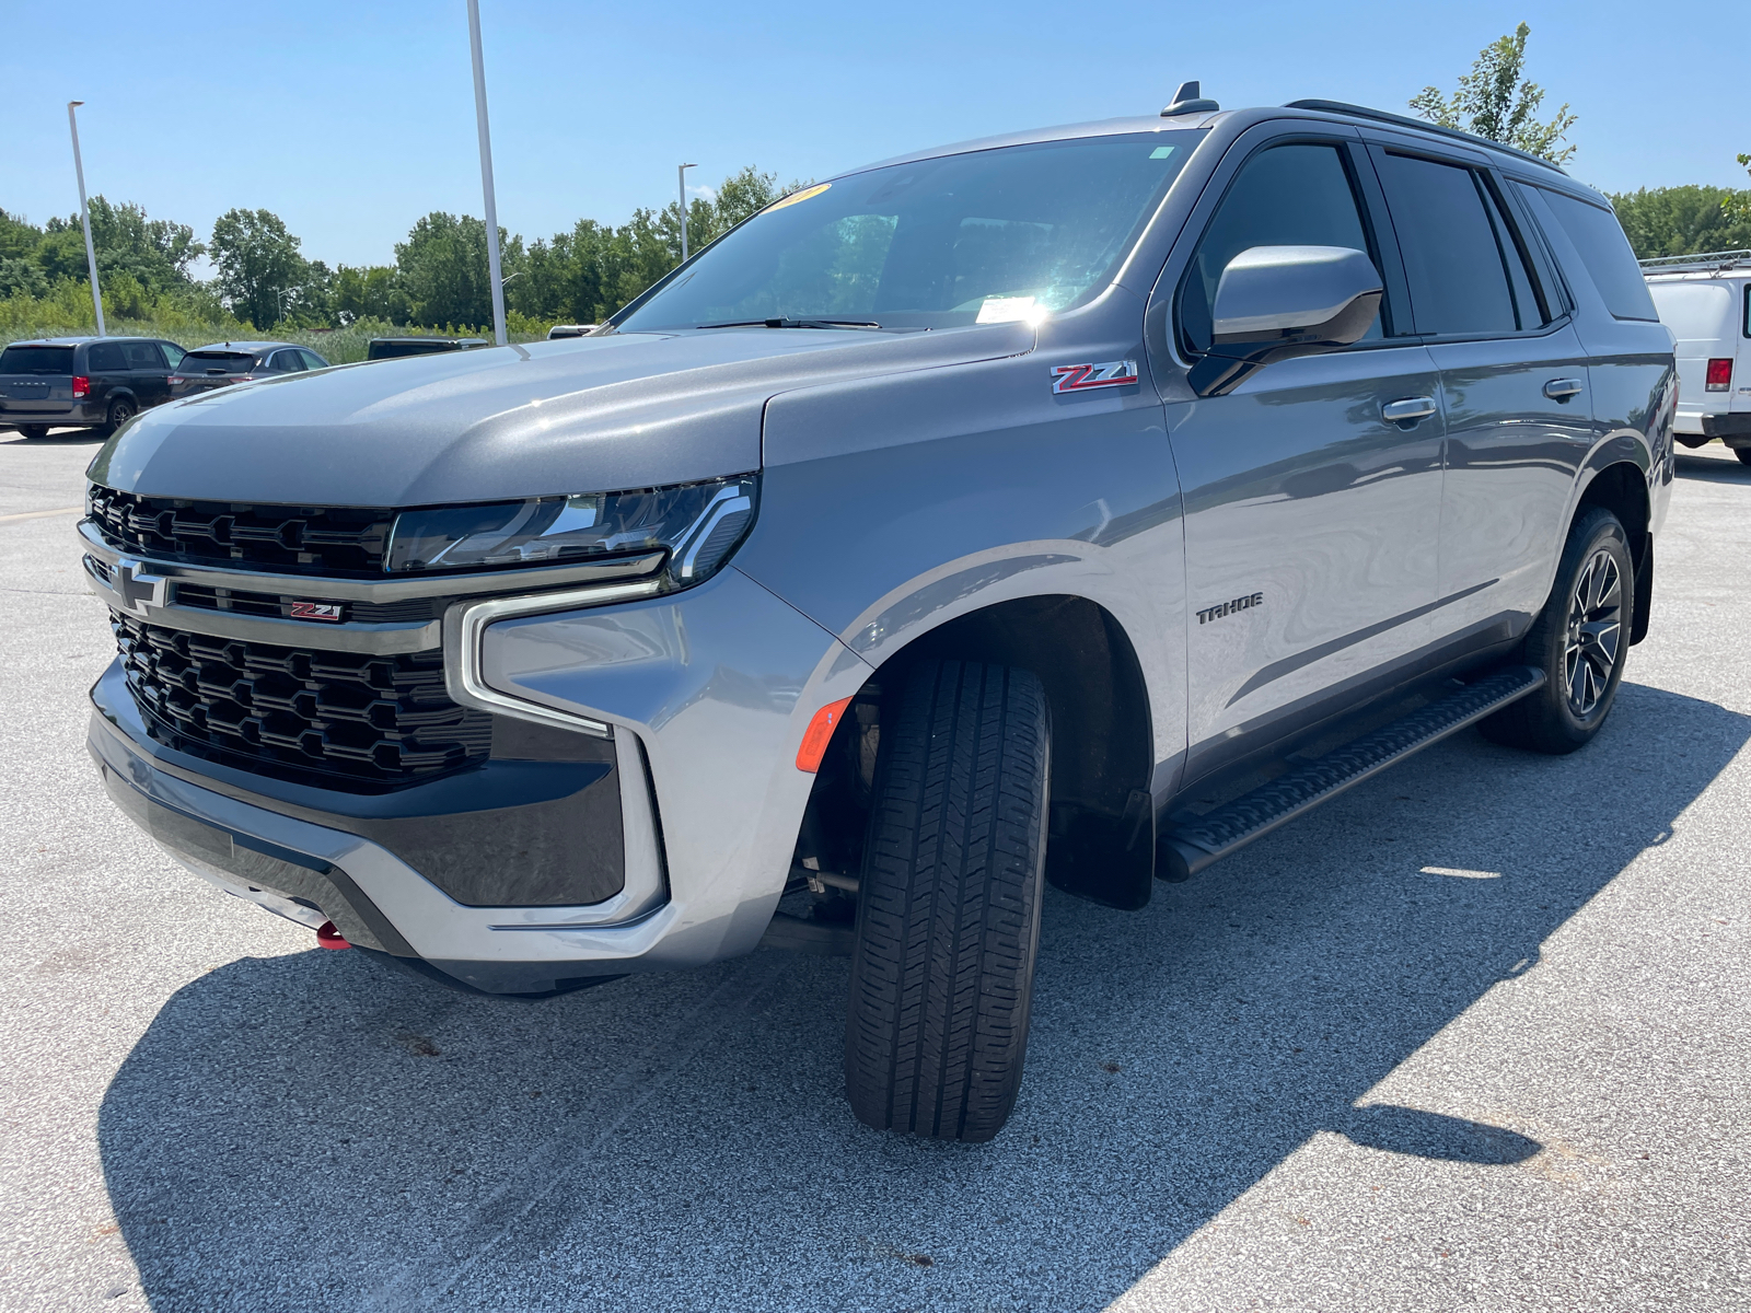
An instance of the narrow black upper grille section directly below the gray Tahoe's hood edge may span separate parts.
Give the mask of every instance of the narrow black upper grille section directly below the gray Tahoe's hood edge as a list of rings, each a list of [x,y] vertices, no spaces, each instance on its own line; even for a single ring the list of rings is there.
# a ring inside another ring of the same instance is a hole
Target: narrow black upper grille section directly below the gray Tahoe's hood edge
[[[91,515],[128,551],[214,565],[382,576],[394,511],[140,497],[91,485]]]

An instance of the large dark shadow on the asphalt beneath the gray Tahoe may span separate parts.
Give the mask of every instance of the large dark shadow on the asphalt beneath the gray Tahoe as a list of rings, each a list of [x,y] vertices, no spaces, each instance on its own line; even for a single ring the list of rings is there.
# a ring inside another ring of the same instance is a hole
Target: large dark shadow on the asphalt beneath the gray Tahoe
[[[1460,735],[1143,912],[1052,893],[989,1145],[853,1120],[842,959],[539,1005],[355,952],[236,961],[117,1071],[112,1206],[156,1309],[1098,1309],[1322,1131],[1523,1169],[1539,1141],[1487,1113],[1369,1091],[1534,972],[1747,739],[1627,683],[1574,756]]]

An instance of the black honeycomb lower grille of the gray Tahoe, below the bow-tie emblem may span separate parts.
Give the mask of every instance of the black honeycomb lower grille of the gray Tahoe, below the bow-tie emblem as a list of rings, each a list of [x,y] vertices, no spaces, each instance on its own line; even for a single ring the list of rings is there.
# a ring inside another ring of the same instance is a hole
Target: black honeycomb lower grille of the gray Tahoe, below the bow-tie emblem
[[[445,693],[443,653],[394,656],[186,634],[110,613],[128,688],[172,748],[326,788],[483,760],[492,716]]]

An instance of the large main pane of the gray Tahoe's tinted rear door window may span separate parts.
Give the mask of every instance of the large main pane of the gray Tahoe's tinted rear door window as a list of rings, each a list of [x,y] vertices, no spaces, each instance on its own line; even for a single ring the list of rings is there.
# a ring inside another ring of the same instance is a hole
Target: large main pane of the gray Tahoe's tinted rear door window
[[[1520,317],[1483,180],[1462,165],[1387,152],[1376,159],[1417,331],[1515,333]]]

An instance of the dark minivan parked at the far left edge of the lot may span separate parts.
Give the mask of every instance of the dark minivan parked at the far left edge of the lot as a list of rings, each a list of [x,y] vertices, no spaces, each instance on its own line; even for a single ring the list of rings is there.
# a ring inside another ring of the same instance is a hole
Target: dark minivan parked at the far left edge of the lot
[[[0,427],[47,438],[51,427],[116,432],[170,401],[182,348],[159,338],[40,338],[0,350]]]

